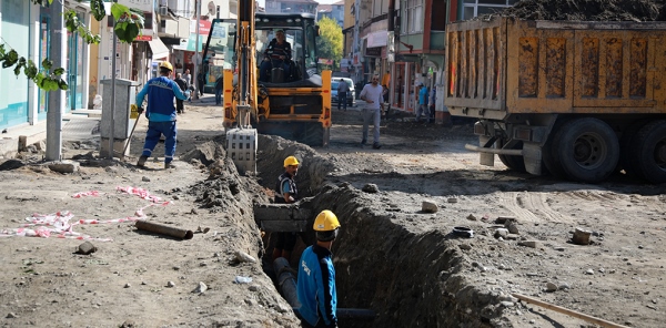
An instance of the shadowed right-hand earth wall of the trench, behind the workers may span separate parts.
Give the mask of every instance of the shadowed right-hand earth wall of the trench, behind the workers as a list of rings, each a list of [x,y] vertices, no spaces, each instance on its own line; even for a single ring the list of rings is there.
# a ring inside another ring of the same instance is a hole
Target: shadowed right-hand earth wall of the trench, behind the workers
[[[335,163],[306,145],[260,135],[259,150],[258,181],[264,193],[274,188],[282,160],[295,155],[302,164],[296,183],[303,196],[312,197],[313,213],[331,209],[341,221],[341,235],[333,244],[339,307],[377,314],[374,320],[342,319],[341,327],[511,326],[502,317],[501,298],[507,296],[482,291],[463,274],[470,260],[460,245],[466,239],[450,230],[405,225],[418,219],[417,215],[396,211],[381,193],[366,193],[346,182],[331,183],[327,176],[337,170]],[[272,245],[264,242],[265,264]],[[299,242],[294,249],[294,269],[305,246]]]

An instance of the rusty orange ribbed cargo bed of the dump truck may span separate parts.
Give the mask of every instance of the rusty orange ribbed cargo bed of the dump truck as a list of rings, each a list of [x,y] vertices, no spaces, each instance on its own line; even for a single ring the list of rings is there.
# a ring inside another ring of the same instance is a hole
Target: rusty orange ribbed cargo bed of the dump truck
[[[501,18],[446,34],[454,115],[665,112],[666,23]]]

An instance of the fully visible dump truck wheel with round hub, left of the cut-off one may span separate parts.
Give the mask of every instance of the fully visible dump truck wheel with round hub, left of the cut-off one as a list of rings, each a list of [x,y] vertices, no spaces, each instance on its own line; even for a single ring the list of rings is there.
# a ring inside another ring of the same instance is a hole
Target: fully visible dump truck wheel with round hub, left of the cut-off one
[[[562,126],[554,144],[562,168],[572,181],[599,183],[617,166],[619,142],[604,121],[585,117]]]

